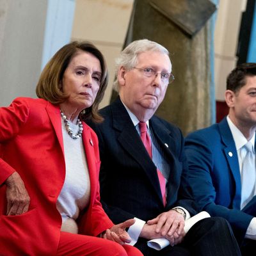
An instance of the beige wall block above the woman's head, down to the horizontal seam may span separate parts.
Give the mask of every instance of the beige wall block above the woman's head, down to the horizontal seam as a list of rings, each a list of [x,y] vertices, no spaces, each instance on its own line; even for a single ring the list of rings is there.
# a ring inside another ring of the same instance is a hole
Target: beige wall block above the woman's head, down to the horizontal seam
[[[72,36],[124,42],[132,0],[77,0]]]

